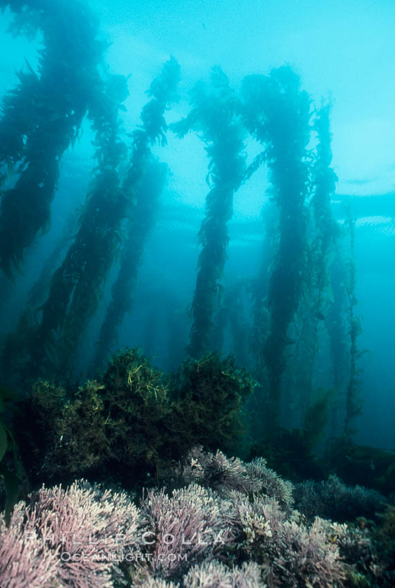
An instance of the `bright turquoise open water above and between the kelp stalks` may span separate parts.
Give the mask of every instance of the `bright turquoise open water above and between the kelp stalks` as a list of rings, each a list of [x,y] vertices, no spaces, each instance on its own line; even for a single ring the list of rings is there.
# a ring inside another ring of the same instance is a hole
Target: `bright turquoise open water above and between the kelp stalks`
[[[333,102],[330,114],[331,167],[338,182],[336,192],[331,194],[331,214],[340,226],[347,222],[347,214],[351,214],[355,222],[353,259],[358,300],[355,312],[362,327],[358,348],[367,350],[358,360],[358,368],[363,370],[358,392],[363,407],[356,421],[356,435],[362,443],[392,448],[395,414],[392,292],[395,278],[392,261],[394,164],[390,143],[394,122],[394,91],[390,81],[394,19],[391,3],[355,2],[348,3],[347,8],[342,3],[336,6],[316,6],[309,2],[289,5],[284,2],[281,6],[273,3],[265,6],[243,3],[241,6],[235,3],[226,10],[221,4],[210,2],[183,3],[182,10],[178,2],[160,3],[159,6],[156,2],[134,3],[133,6],[126,2],[111,2],[110,5],[102,2],[90,6],[100,20],[98,37],[109,44],[100,56],[100,67],[106,70],[106,75],[127,76],[125,84],[129,95],[122,102],[119,120],[120,138],[128,147],[127,134],[141,124],[140,110],[148,101],[147,90],[151,81],[170,55],[178,60],[181,77],[178,101],[173,102],[166,113],[167,125],[187,115],[190,91],[199,80],[208,81],[212,66],[221,66],[237,95],[247,75],[267,75],[272,68],[287,64],[300,76],[303,89],[309,92],[311,112],[320,107],[322,100]],[[67,26],[66,18],[64,14],[64,26]],[[3,95],[18,84],[20,71],[39,70],[38,52],[43,48],[42,33],[28,30],[31,34],[26,38],[23,23],[18,25],[21,34],[8,33],[11,21],[12,12],[6,8],[1,19],[1,44],[6,56],[1,66]],[[73,26],[83,26],[77,23],[77,17],[75,21]],[[372,27],[371,23],[375,26]],[[71,28],[64,39],[68,51],[76,43],[73,35],[75,31]],[[61,64],[58,68],[54,64],[51,73],[55,83],[57,76],[62,75],[61,68]],[[66,81],[64,85],[67,86]],[[56,118],[56,108],[53,103],[53,118]],[[19,264],[18,270],[12,268],[14,284],[1,276],[3,338],[17,327],[28,304],[28,291],[39,279],[50,252],[57,248],[52,267],[46,269],[48,273],[61,264],[72,242],[95,165],[91,122],[82,118],[78,124],[81,137],[73,147],[62,151],[62,158],[59,156],[59,178],[56,190],[53,190],[50,214],[46,214],[46,226],[39,225],[31,243],[23,249],[23,264]],[[165,370],[174,369],[187,357],[185,347],[192,322],[190,305],[201,250],[197,235],[205,217],[209,163],[205,138],[202,141],[197,130],[197,136],[191,132],[182,141],[170,131],[165,147],[152,146],[154,155],[167,163],[169,173],[158,199],[155,221],[144,240],[138,276],[131,293],[131,312],[123,318],[118,342],[110,349],[141,347],[145,354],[153,357],[155,365]],[[259,153],[259,144],[248,132],[241,140],[244,141],[241,152],[246,154],[248,165]],[[311,149],[314,140],[312,132]],[[4,151],[7,147],[6,143]],[[15,176],[9,181],[15,182]],[[241,300],[236,302],[235,295],[232,295],[235,308],[228,309],[228,314],[235,312],[239,305],[239,322],[244,322],[239,328],[244,329],[243,337],[246,338],[244,349],[239,350],[240,360],[250,369],[254,369],[255,362],[248,349],[253,325],[251,316],[243,314],[250,309],[243,310],[242,307],[253,303],[248,284],[259,279],[257,276],[265,255],[262,249],[265,217],[268,215],[263,207],[270,200],[268,190],[268,169],[262,165],[235,192],[232,217],[228,221],[228,259],[223,265],[223,275],[217,280],[220,292],[214,309],[217,314],[221,307],[226,309],[229,304],[225,300],[226,292],[232,288],[239,291]],[[309,196],[306,194],[306,198]],[[26,210],[19,214],[33,215],[32,206],[27,201]],[[4,224],[6,212],[2,222],[3,233],[17,230],[15,226],[7,228]],[[121,223],[125,224],[125,219]],[[39,232],[43,229],[46,234],[42,237]],[[92,251],[92,255],[94,253]],[[273,257],[273,252],[271,255]],[[111,270],[103,275],[105,284],[102,284],[95,315],[86,324],[78,347],[73,349],[70,367],[83,378],[89,373],[88,365],[95,353],[98,330],[111,302],[111,282],[117,275],[119,257],[114,256]],[[268,266],[271,261],[266,261]],[[49,276],[46,279],[49,280]],[[42,284],[41,303],[46,297],[45,288],[48,284]],[[345,338],[348,328],[346,306],[343,311]],[[237,354],[237,345],[241,346],[241,340],[232,340],[228,327],[221,350]],[[332,385],[330,370],[330,363],[318,368],[320,374],[317,374],[316,386]]]

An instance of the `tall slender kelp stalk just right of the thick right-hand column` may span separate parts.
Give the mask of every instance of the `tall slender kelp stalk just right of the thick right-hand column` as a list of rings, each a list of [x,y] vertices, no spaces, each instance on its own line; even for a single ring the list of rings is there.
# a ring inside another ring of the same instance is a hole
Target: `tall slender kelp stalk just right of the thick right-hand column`
[[[324,104],[316,113],[313,129],[317,134],[317,147],[312,168],[313,194],[311,215],[307,229],[306,264],[302,275],[302,296],[293,321],[295,338],[293,356],[288,362],[282,416],[288,426],[298,426],[315,401],[320,344],[324,340],[327,314],[333,303],[331,291],[331,265],[335,255],[338,227],[333,221],[331,198],[336,190],[336,174],[331,168],[331,133],[329,129],[330,104]],[[329,385],[325,383],[325,385]],[[335,391],[332,391],[333,398]],[[329,398],[329,397],[328,397]]]

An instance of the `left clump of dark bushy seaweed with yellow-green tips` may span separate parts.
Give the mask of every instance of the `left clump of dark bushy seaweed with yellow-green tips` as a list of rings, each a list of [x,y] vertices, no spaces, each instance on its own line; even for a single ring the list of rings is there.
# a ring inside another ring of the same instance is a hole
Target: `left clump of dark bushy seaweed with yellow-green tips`
[[[163,374],[138,351],[115,356],[102,380],[72,396],[39,381],[19,424],[30,479],[113,477],[132,486],[165,459],[169,409]]]

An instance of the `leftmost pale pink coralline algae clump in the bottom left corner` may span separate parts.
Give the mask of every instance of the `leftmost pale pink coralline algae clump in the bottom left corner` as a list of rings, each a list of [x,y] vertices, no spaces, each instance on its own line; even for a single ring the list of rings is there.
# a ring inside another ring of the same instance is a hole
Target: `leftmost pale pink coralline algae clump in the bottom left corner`
[[[1,588],[112,588],[116,562],[136,549],[138,509],[82,480],[41,488],[0,525]]]

